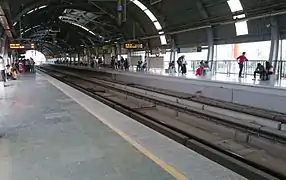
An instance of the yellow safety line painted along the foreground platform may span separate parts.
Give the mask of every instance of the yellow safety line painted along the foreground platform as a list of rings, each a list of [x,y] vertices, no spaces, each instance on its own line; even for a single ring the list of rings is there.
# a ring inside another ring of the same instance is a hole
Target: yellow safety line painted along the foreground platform
[[[84,109],[86,109],[89,113],[91,113],[93,116],[95,116],[96,118],[98,118],[101,122],[103,122],[104,124],[106,124],[110,129],[112,129],[114,132],[116,132],[119,136],[121,136],[123,139],[125,139],[128,143],[130,143],[133,147],[135,147],[138,151],[140,151],[142,154],[144,154],[145,156],[147,156],[149,159],[151,159],[153,162],[155,162],[157,165],[159,165],[162,169],[164,169],[166,172],[168,172],[169,174],[171,174],[174,178],[176,178],[177,180],[188,180],[188,178],[181,172],[179,172],[177,169],[175,169],[174,167],[172,167],[171,165],[167,164],[166,162],[164,162],[163,160],[161,160],[159,157],[157,157],[156,155],[154,155],[152,152],[150,152],[149,150],[147,150],[146,148],[144,148],[142,145],[140,145],[138,142],[136,142],[135,140],[133,140],[132,138],[130,138],[127,134],[125,134],[124,132],[120,131],[119,129],[117,129],[116,127],[114,127],[112,124],[108,123],[104,118],[100,117],[98,114],[95,114],[89,107],[87,107],[86,105],[82,104],[81,102],[79,102],[76,98],[74,98],[72,95],[70,95],[68,92],[66,92],[65,90],[63,90],[61,87],[58,87],[57,84],[55,84],[53,81],[50,80],[49,77],[47,78],[47,80],[53,84],[55,87],[57,87],[59,90],[61,90],[62,92],[64,92],[66,95],[68,95],[70,98],[72,98],[74,101],[76,101],[79,105],[81,105]],[[54,79],[54,78],[52,78]],[[55,79],[56,80],[56,79]],[[67,85],[68,86],[68,85]],[[71,87],[72,88],[72,87]],[[77,91],[77,90],[76,90]]]

